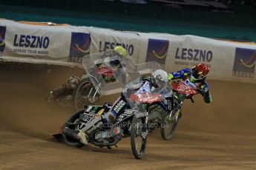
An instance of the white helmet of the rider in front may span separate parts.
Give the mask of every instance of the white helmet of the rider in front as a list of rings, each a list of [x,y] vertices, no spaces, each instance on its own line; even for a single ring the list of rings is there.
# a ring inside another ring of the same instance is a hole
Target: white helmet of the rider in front
[[[155,88],[162,88],[168,82],[168,74],[163,69],[157,69],[152,73],[151,85]]]

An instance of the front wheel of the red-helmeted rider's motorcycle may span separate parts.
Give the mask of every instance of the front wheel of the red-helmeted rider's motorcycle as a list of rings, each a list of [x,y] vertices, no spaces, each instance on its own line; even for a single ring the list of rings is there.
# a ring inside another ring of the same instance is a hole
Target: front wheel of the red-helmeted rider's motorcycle
[[[179,113],[180,114],[180,113]],[[161,136],[164,140],[170,140],[174,136],[179,118],[164,118],[161,124]]]

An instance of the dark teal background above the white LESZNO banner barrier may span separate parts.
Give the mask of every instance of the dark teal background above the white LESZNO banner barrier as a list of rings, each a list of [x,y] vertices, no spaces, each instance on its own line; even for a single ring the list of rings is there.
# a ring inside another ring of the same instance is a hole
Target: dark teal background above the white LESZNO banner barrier
[[[218,1],[227,8],[174,3],[184,1],[1,0],[0,18],[256,41],[255,1]]]

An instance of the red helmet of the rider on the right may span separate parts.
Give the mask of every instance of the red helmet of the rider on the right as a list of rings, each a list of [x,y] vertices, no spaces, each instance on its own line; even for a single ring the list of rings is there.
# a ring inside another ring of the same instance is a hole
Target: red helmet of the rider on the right
[[[206,64],[200,63],[192,67],[191,78],[194,81],[202,81],[209,73],[209,67]]]

